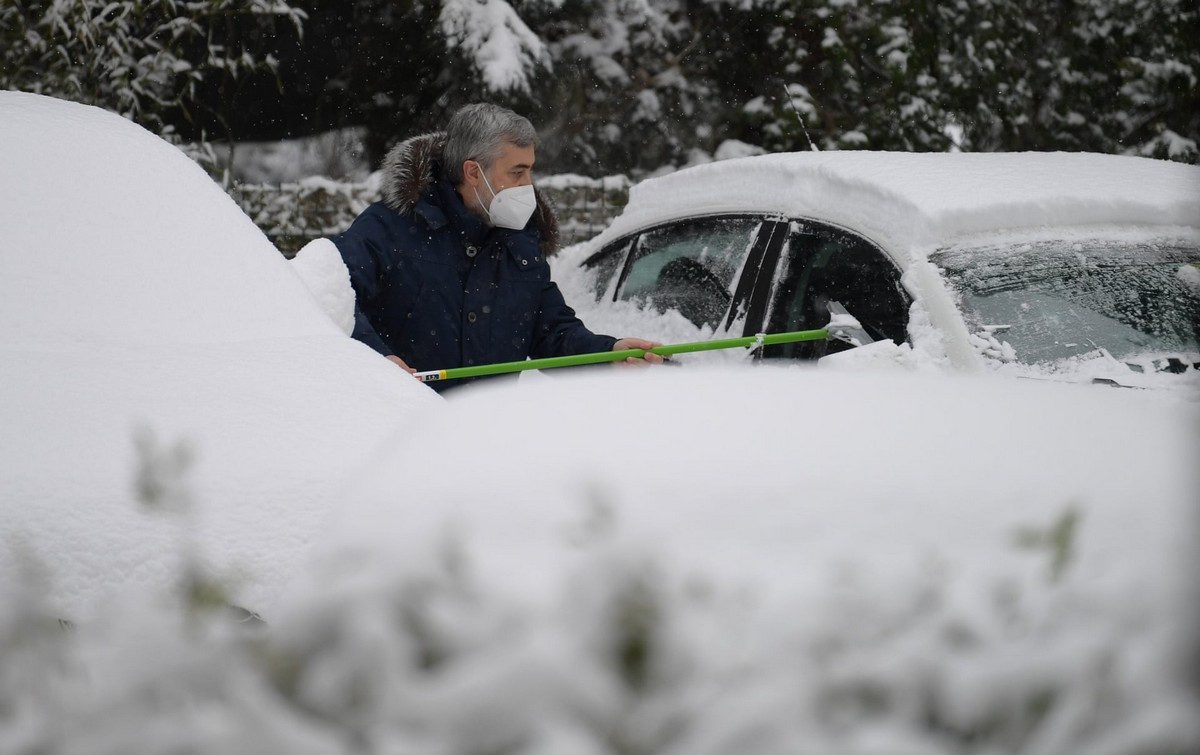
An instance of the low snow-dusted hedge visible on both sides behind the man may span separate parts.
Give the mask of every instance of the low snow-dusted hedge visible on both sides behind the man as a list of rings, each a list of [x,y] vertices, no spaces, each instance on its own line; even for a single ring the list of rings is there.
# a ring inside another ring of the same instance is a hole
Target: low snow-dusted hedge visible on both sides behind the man
[[[281,185],[238,184],[229,190],[254,223],[292,257],[308,241],[341,233],[354,217],[379,199],[379,174],[365,181],[306,178]],[[538,180],[539,191],[558,212],[564,245],[600,233],[629,198],[624,175],[593,179],[552,175]]]

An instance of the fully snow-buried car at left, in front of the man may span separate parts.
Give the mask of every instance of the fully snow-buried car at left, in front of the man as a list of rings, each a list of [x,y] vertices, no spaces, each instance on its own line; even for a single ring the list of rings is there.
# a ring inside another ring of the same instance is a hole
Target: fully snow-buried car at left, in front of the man
[[[346,477],[426,403],[178,149],[0,92],[0,589],[40,574],[79,619],[196,559],[269,613]]]

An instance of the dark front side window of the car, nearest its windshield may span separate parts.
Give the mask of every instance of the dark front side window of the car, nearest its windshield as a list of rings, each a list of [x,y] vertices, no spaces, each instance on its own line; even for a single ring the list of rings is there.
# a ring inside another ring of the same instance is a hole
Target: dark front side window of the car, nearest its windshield
[[[844,306],[868,336],[902,343],[912,299],[900,283],[900,270],[874,244],[854,234],[797,223],[779,283],[772,295],[768,330],[824,328],[830,302]],[[818,358],[847,348],[838,341],[768,347],[764,356]]]

